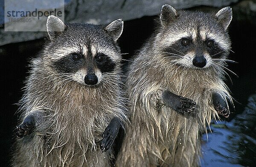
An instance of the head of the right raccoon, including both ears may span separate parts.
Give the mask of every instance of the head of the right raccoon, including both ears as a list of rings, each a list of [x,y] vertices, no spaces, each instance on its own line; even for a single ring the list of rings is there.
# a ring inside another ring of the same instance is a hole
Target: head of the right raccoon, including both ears
[[[230,7],[207,14],[177,12],[164,5],[160,20],[163,30],[159,34],[160,52],[170,63],[196,69],[223,65],[230,49],[227,35],[232,20]]]

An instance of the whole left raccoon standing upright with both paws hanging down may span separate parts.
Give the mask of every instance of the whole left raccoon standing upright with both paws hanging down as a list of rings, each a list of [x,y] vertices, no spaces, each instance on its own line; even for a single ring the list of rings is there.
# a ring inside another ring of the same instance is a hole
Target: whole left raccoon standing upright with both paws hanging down
[[[32,60],[20,102],[13,167],[111,165],[111,145],[128,119],[122,30],[121,19],[103,26],[48,17],[49,42]]]

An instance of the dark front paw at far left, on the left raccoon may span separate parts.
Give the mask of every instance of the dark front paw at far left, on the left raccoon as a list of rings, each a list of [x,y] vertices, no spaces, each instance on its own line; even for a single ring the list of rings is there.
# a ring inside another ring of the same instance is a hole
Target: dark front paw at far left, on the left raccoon
[[[20,126],[16,127],[16,137],[23,138],[30,135],[34,130],[34,124],[32,122],[23,122]]]

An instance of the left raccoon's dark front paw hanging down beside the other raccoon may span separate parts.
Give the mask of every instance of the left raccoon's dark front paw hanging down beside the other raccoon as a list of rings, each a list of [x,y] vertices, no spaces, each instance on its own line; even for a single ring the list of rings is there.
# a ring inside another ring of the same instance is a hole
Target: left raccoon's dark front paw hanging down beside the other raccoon
[[[108,151],[109,148],[112,146],[118,134],[120,125],[121,125],[120,119],[113,118],[109,123],[108,127],[106,127],[105,131],[102,134],[102,140],[100,141],[100,145],[99,145],[102,153]]]

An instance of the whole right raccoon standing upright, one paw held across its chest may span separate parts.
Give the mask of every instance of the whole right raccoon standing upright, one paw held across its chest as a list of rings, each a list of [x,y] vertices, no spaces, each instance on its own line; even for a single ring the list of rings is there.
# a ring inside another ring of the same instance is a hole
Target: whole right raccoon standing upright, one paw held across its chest
[[[231,20],[230,7],[217,13],[162,7],[160,25],[128,70],[132,125],[116,166],[198,165],[201,134],[233,106],[223,81]]]

